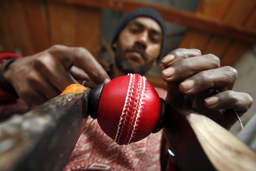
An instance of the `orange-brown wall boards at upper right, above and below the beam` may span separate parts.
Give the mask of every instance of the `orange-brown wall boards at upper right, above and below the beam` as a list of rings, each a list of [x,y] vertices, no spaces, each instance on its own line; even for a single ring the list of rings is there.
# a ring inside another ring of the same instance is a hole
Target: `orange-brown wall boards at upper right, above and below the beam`
[[[200,0],[196,13],[256,31],[255,0]],[[248,45],[245,41],[193,29],[185,33],[180,43],[182,48],[197,48],[203,54],[215,54],[222,66],[233,65]]]

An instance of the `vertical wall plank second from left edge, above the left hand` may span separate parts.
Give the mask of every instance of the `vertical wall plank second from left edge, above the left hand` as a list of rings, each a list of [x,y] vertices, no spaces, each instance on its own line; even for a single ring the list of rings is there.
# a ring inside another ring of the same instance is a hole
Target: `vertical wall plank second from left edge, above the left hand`
[[[23,9],[26,14],[26,21],[31,43],[36,52],[41,52],[50,47],[49,24],[47,21],[46,7],[43,1],[25,0]]]

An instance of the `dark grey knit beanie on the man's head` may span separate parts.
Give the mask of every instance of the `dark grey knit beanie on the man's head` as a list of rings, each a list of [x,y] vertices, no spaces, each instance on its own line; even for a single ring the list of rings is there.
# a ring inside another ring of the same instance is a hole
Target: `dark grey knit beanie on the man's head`
[[[162,55],[162,51],[163,51],[164,39],[165,39],[165,35],[166,35],[166,26],[165,26],[165,23],[164,23],[161,15],[158,12],[156,12],[155,10],[151,9],[151,8],[147,8],[147,7],[138,8],[138,9],[134,10],[133,12],[131,12],[130,14],[128,14],[125,17],[125,19],[123,20],[123,22],[119,25],[119,27],[117,27],[117,29],[115,31],[115,34],[114,34],[114,37],[113,37],[113,40],[111,42],[111,46],[118,39],[119,34],[124,29],[124,27],[128,24],[128,22],[130,20],[132,20],[133,18],[136,18],[136,17],[150,17],[150,18],[156,20],[159,23],[159,25],[162,29],[162,34],[163,34],[160,54],[159,54],[159,57],[158,57],[158,59],[161,59],[162,58],[161,55]]]

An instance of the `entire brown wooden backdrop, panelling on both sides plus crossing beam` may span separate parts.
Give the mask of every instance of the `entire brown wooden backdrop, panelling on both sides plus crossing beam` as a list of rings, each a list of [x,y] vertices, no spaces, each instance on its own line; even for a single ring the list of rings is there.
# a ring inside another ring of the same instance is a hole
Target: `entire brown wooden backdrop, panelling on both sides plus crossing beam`
[[[98,58],[100,10],[157,10],[165,21],[186,25],[181,48],[215,54],[233,65],[256,42],[255,0],[200,0],[195,13],[136,0],[0,0],[0,52],[35,54],[53,44],[82,46]],[[153,85],[165,88],[160,78]]]

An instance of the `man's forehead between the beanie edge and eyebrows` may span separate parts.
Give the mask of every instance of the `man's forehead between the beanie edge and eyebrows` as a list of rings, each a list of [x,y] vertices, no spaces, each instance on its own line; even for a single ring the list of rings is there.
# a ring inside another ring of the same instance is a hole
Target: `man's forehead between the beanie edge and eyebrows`
[[[162,34],[162,29],[159,23],[150,17],[133,18],[127,25],[130,24],[139,24],[141,26],[147,27],[148,29],[156,30]]]

